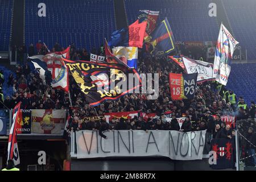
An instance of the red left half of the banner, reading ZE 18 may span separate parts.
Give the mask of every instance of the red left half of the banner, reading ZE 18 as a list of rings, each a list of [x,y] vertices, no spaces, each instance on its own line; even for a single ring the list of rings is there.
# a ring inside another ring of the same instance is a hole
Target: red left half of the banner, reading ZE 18
[[[182,100],[181,77],[182,74],[170,73],[169,75],[169,84],[172,100]]]

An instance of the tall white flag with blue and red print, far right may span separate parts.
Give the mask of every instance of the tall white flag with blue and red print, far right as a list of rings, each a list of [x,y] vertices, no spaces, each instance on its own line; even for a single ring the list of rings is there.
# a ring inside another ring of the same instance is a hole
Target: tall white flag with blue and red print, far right
[[[232,59],[237,42],[226,27],[221,23],[213,65],[213,78],[226,85],[230,73],[229,61]]]

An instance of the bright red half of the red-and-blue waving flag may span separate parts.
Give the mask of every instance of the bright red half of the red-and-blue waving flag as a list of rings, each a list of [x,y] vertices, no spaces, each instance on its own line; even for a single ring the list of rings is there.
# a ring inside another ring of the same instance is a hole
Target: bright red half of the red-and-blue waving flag
[[[129,26],[129,46],[142,48],[147,22],[138,22],[139,20]]]

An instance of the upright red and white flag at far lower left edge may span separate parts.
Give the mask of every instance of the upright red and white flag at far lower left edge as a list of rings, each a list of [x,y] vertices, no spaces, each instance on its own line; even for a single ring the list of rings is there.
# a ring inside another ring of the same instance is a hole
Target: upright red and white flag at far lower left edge
[[[18,143],[17,143],[17,135],[16,135],[16,127],[18,118],[21,117],[20,109],[20,102],[14,107],[13,109],[13,124],[11,125],[11,130],[9,134],[9,143],[8,143],[8,159],[14,160],[14,165],[18,165],[19,161],[19,150],[18,150]]]

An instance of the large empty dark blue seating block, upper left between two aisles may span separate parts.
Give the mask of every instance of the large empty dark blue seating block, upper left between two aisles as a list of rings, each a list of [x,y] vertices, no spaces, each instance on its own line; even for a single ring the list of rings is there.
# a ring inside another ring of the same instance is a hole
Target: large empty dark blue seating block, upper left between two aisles
[[[39,3],[47,5],[46,17],[35,16]],[[89,50],[99,47],[115,29],[113,0],[25,1],[26,45],[42,40],[47,45],[59,42],[63,47],[75,43],[77,48]]]

